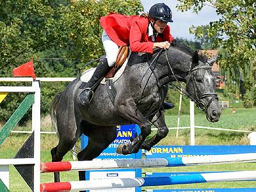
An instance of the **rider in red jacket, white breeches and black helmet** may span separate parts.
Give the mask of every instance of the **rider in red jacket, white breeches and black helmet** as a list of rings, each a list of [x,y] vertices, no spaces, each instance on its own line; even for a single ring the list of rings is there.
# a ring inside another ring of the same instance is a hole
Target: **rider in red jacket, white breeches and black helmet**
[[[102,26],[102,43],[106,51],[104,58],[95,69],[95,72],[86,83],[83,92],[79,95],[79,100],[83,105],[90,104],[93,96],[93,85],[99,83],[108,73],[109,68],[115,65],[118,47],[129,45],[132,52],[150,52],[154,48],[168,49],[173,36],[170,33],[168,22],[173,22],[172,11],[164,3],[154,4],[148,14],[120,15],[109,13],[100,18]],[[96,85],[97,86],[97,85]],[[165,103],[164,108],[172,108],[172,104]],[[169,106],[168,106],[169,105]]]

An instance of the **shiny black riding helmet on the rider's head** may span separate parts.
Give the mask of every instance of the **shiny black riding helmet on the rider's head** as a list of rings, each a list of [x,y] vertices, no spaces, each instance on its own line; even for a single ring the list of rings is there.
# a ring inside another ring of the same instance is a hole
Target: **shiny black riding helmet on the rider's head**
[[[154,4],[148,12],[148,17],[154,20],[160,19],[160,20],[164,20],[165,22],[173,22],[172,11],[164,3]]]

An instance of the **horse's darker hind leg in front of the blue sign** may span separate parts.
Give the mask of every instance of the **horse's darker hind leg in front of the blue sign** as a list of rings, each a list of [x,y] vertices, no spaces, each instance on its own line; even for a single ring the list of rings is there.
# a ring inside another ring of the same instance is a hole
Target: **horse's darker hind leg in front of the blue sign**
[[[91,161],[98,157],[116,138],[116,126],[103,127],[92,125],[84,132],[88,136],[88,145],[77,154],[78,161]],[[79,172],[79,180],[85,180],[85,172]]]

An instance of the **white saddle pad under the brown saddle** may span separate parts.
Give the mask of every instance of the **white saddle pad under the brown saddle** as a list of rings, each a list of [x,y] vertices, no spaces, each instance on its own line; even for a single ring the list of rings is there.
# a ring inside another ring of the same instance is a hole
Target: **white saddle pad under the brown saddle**
[[[111,77],[111,78],[108,78],[108,79],[112,79],[113,82],[115,82],[117,79],[119,79],[120,76],[122,76],[122,74],[124,72],[124,69],[127,65],[127,62],[129,60],[130,55],[131,55],[131,50],[129,49],[129,54],[127,56],[127,59],[124,61],[124,64],[121,66],[121,68],[119,68],[119,70],[116,72],[114,77]],[[83,74],[80,77],[80,80],[87,83],[92,78],[92,75],[93,75],[95,69],[96,69],[96,67],[89,68],[88,70],[84,71]],[[102,79],[100,84],[106,84],[106,78]]]

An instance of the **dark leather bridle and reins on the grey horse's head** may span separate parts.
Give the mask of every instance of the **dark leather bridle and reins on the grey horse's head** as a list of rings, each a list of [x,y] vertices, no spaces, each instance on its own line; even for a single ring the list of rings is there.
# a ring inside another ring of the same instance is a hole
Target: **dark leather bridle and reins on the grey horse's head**
[[[175,86],[172,84],[172,86],[174,86],[175,88],[179,89],[180,92],[184,93],[189,100],[192,100],[193,102],[196,103],[196,106],[206,112],[207,109],[209,108],[210,104],[212,103],[213,100],[217,99],[218,100],[218,95],[216,93],[200,93],[199,91],[199,88],[198,86],[196,85],[196,81],[195,81],[195,76],[194,76],[194,73],[196,70],[199,70],[199,69],[205,69],[205,70],[211,70],[211,67],[210,66],[200,66],[200,67],[195,67],[195,68],[191,68],[189,70],[189,81],[188,82],[191,82],[193,83],[193,88],[195,90],[195,96],[196,98],[192,97],[192,95],[190,95],[186,90],[183,89],[182,85],[180,84],[180,82],[178,81],[177,77],[175,76],[174,72],[173,72],[173,69],[170,65],[170,62],[168,60],[168,56],[167,56],[167,51],[165,52],[165,56],[166,56],[166,60],[168,62],[168,65],[169,65],[169,68],[170,68],[170,71],[172,72],[174,78],[175,78],[175,81],[177,81],[177,83],[179,84],[179,87]],[[187,85],[187,88],[188,88],[188,85]],[[198,94],[199,92],[199,94]],[[202,99],[204,99],[205,97],[211,97],[211,99],[209,100],[209,102],[207,102],[207,104],[205,104],[204,102],[202,102]],[[207,116],[207,119],[209,120],[209,117]]]

